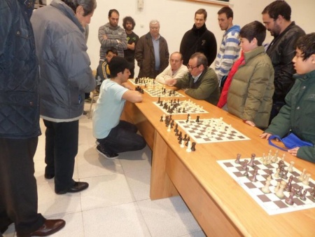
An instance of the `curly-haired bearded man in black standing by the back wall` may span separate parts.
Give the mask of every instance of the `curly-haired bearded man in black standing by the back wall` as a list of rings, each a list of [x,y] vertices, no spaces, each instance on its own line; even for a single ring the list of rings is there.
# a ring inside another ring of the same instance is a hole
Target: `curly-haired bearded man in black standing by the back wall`
[[[127,34],[127,49],[124,51],[125,59],[133,65],[130,69],[129,78],[134,78],[134,50],[136,49],[136,44],[139,40],[139,36],[133,32],[135,26],[136,22],[134,22],[132,17],[126,16],[123,19],[123,27]]]

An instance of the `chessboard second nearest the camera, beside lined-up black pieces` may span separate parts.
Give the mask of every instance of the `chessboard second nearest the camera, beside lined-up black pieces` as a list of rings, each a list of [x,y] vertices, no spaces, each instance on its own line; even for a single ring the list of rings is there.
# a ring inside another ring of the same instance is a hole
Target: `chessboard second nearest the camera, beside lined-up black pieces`
[[[193,119],[189,122],[187,120],[175,122],[197,144],[250,140],[231,125],[223,122],[223,118],[200,119],[199,122]]]

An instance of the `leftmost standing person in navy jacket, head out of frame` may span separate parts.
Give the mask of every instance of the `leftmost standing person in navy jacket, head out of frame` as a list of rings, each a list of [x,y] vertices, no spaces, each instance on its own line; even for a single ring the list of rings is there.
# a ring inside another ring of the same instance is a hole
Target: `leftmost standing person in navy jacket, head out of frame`
[[[31,29],[34,1],[0,1],[0,236],[49,236],[66,224],[38,213],[38,62]]]

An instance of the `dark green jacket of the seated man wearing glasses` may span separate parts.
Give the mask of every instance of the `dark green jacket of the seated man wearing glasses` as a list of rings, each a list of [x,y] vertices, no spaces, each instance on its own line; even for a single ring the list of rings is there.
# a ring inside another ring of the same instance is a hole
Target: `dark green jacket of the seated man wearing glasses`
[[[177,88],[187,89],[185,93],[197,100],[206,100],[211,104],[218,104],[220,89],[218,88],[218,77],[214,69],[208,67],[202,72],[199,79],[194,83],[193,76],[190,73],[185,74],[183,78],[177,79]]]

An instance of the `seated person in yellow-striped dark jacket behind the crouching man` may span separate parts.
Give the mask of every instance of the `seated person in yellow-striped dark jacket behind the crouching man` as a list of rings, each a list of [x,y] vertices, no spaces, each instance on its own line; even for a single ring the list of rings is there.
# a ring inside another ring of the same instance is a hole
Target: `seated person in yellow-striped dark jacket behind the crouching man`
[[[111,62],[111,59],[116,56],[118,56],[117,49],[110,48],[109,50],[106,51],[106,60],[99,62],[99,67],[97,67],[97,74],[96,74],[97,92],[99,92],[99,88],[101,87],[102,82],[110,78],[109,75],[111,74],[111,72],[109,71],[109,62]]]

